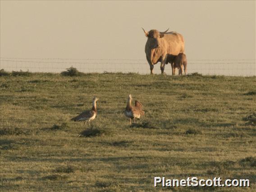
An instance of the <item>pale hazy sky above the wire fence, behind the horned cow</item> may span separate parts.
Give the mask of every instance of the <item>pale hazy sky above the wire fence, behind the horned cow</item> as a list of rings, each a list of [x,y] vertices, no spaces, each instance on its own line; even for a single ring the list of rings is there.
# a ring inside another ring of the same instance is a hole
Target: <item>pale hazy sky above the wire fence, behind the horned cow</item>
[[[255,59],[255,1],[3,1],[1,57],[144,59],[146,30],[189,59]]]

